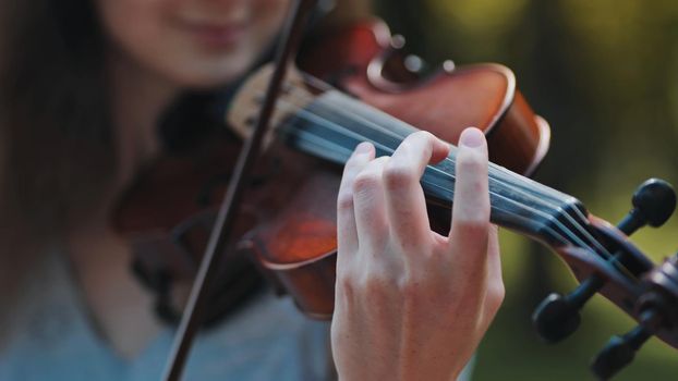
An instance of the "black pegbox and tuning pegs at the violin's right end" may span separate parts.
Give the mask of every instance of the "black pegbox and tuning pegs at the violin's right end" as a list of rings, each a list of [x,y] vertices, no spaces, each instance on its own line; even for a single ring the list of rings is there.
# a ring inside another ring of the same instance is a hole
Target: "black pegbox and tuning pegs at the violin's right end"
[[[628,235],[644,225],[664,224],[676,208],[676,193],[670,184],[651,179],[639,186],[632,205],[616,229],[590,217],[601,242],[613,254],[608,258],[582,248],[558,250],[581,283],[566,296],[550,294],[533,315],[537,333],[547,342],[572,334],[581,321],[580,309],[596,293],[633,317],[639,325],[613,336],[592,362],[593,372],[601,379],[629,365],[653,335],[678,347],[678,254],[655,267],[628,241]]]

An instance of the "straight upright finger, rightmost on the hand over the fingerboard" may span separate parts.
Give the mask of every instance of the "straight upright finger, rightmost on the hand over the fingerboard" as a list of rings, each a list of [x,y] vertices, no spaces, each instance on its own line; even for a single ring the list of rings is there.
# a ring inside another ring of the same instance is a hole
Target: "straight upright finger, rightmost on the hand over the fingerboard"
[[[487,144],[477,128],[467,128],[457,151],[455,202],[449,236],[456,267],[470,279],[482,281],[487,257],[489,196]]]

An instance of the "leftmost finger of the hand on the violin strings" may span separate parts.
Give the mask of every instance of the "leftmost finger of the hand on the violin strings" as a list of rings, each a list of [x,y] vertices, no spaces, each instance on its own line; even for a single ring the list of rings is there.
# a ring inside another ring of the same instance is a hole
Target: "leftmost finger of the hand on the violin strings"
[[[347,161],[337,196],[337,244],[341,253],[358,249],[358,232],[353,210],[353,182],[355,176],[374,158],[374,146],[363,142],[355,147]]]

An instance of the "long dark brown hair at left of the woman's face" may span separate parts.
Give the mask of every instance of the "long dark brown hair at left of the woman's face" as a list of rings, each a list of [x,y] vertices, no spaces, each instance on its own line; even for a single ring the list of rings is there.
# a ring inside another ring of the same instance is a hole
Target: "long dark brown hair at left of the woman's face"
[[[114,170],[105,38],[88,0],[5,0],[1,12],[2,209],[58,233]]]

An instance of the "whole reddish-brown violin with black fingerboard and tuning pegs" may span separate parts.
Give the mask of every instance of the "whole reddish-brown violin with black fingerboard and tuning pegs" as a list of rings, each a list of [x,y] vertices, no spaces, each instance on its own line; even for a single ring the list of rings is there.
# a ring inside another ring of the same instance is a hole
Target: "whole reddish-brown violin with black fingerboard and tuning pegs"
[[[537,307],[537,332],[552,342],[565,339],[579,325],[579,310],[597,293],[639,325],[610,341],[594,361],[596,374],[612,377],[652,335],[678,347],[678,257],[655,266],[628,239],[642,225],[657,226],[670,217],[676,196],[668,184],[644,184],[632,212],[615,228],[574,197],[526,177],[547,151],[549,127],[531,110],[507,67],[448,62],[435,75],[422,76],[408,64],[402,39],[374,20],[316,38],[322,42],[307,41],[303,59],[281,82],[270,114],[275,132],[266,135],[266,151],[245,185],[232,239],[216,254],[225,260],[215,271],[228,282],[211,285],[210,304],[244,297],[246,292],[223,296],[222,290],[249,290],[251,278],[242,274],[252,267],[243,258],[254,258],[256,269],[303,312],[331,317],[336,196],[341,164],[353,148],[366,140],[377,155],[389,155],[417,130],[455,144],[462,128],[474,125],[486,133],[494,162],[488,172],[492,222],[552,247],[581,282],[571,294],[552,294]],[[219,219],[216,195],[232,175],[223,169],[232,168],[240,149],[233,134],[252,135],[275,76],[274,69],[264,66],[240,87],[228,113],[231,132],[201,142],[194,149],[201,153],[187,162],[167,159],[120,201],[114,224],[131,238],[137,271],[158,288],[161,309],[170,316],[172,282],[195,276],[201,253],[215,246],[207,236]],[[452,146],[449,157],[428,165],[421,181],[432,226],[439,231],[449,226],[455,152]],[[210,164],[203,167],[205,162]],[[174,180],[177,168],[193,173],[195,181]],[[157,190],[150,189],[158,183],[182,196],[155,196]],[[217,306],[206,316],[216,320],[223,314]]]

